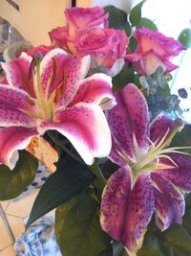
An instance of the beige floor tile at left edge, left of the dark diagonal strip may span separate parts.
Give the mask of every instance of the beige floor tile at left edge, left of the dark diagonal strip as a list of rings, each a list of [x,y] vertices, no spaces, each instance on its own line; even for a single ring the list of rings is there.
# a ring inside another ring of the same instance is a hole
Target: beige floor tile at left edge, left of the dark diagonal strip
[[[2,215],[0,215],[0,250],[9,246],[13,243],[13,239],[11,238],[11,233],[6,223],[2,219]]]

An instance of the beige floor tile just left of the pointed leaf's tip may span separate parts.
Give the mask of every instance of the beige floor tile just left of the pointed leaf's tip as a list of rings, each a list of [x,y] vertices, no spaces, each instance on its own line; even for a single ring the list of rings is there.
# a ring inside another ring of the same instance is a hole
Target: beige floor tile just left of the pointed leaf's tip
[[[11,200],[11,203],[6,210],[6,214],[21,218],[28,216],[31,213],[32,204],[38,192],[38,189],[34,189],[32,194],[29,196],[19,198],[17,200]]]

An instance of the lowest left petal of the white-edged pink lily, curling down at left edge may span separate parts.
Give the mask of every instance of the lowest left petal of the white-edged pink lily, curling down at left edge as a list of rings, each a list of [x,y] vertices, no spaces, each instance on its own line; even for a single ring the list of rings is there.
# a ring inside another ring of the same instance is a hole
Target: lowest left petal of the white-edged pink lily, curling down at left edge
[[[0,163],[12,170],[18,161],[18,151],[26,149],[36,135],[38,133],[30,128],[1,128]]]

